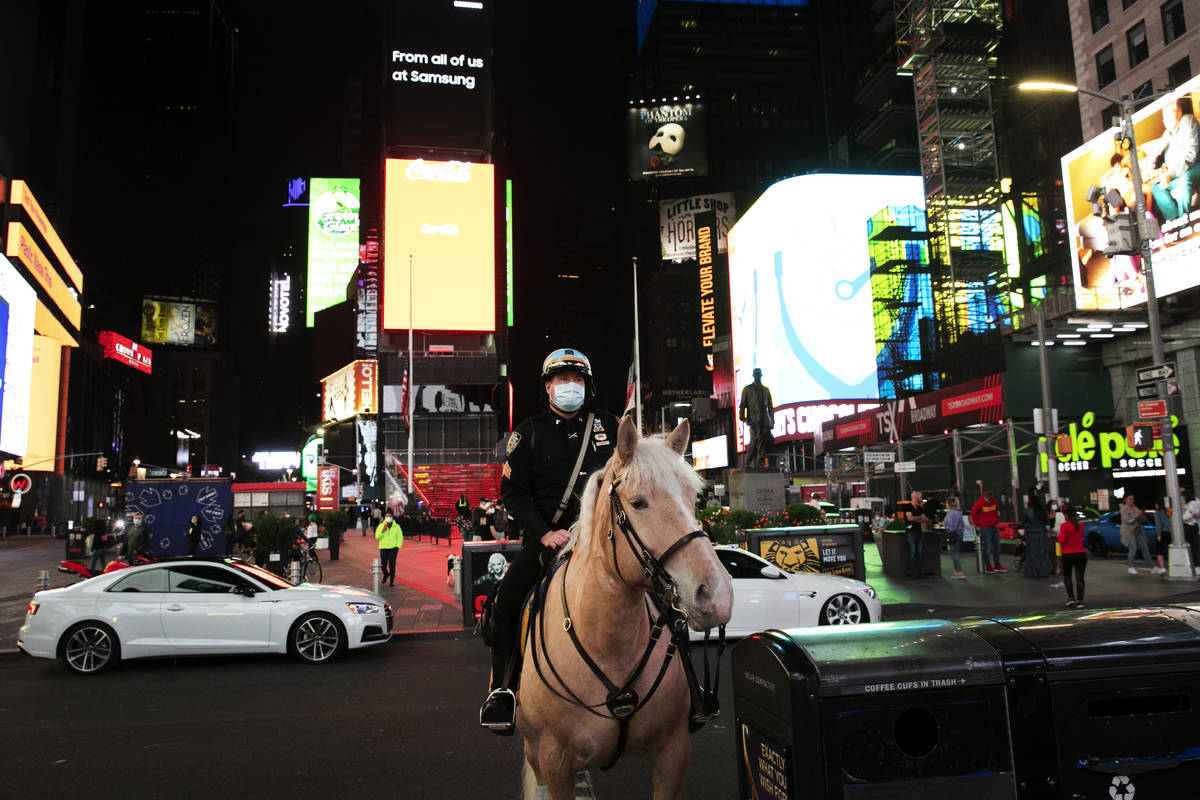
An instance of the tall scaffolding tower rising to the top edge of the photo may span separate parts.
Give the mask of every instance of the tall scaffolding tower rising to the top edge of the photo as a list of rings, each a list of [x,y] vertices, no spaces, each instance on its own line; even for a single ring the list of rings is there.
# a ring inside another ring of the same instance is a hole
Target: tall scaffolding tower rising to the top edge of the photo
[[[895,17],[900,73],[913,79],[944,355],[994,331],[1008,305],[991,102],[1003,12],[1000,0],[895,0]]]

